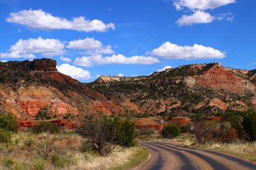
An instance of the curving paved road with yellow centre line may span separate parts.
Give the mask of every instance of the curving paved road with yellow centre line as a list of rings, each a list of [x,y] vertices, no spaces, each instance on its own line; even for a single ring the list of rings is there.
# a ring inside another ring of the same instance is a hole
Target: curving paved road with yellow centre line
[[[177,143],[141,142],[150,150],[149,160],[135,170],[158,169],[237,169],[256,170],[256,164],[225,153],[180,146]]]

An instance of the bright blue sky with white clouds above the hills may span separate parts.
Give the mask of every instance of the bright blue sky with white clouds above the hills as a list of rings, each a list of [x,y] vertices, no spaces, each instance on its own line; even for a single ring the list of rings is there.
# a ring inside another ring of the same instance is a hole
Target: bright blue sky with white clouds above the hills
[[[51,58],[82,82],[184,64],[256,67],[253,0],[0,0],[0,61]]]

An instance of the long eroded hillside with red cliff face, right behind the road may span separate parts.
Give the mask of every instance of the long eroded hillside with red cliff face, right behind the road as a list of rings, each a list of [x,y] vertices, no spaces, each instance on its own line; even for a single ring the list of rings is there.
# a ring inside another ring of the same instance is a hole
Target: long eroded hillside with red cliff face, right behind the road
[[[100,76],[88,86],[126,113],[189,116],[247,110],[256,106],[255,71],[213,64],[191,64],[150,76]]]

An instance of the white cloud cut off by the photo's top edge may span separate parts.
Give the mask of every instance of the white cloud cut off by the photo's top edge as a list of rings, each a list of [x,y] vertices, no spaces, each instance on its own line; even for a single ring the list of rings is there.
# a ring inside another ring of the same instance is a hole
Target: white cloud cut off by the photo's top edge
[[[176,10],[189,8],[189,10],[209,10],[224,6],[230,3],[236,3],[236,0],[173,0],[173,6]]]

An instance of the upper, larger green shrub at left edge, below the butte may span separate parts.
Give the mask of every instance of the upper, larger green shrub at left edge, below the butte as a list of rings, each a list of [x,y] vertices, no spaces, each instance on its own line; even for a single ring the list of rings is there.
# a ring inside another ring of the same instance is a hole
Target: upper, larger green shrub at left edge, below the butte
[[[17,132],[18,124],[15,115],[12,113],[0,113],[0,128],[6,131]]]

